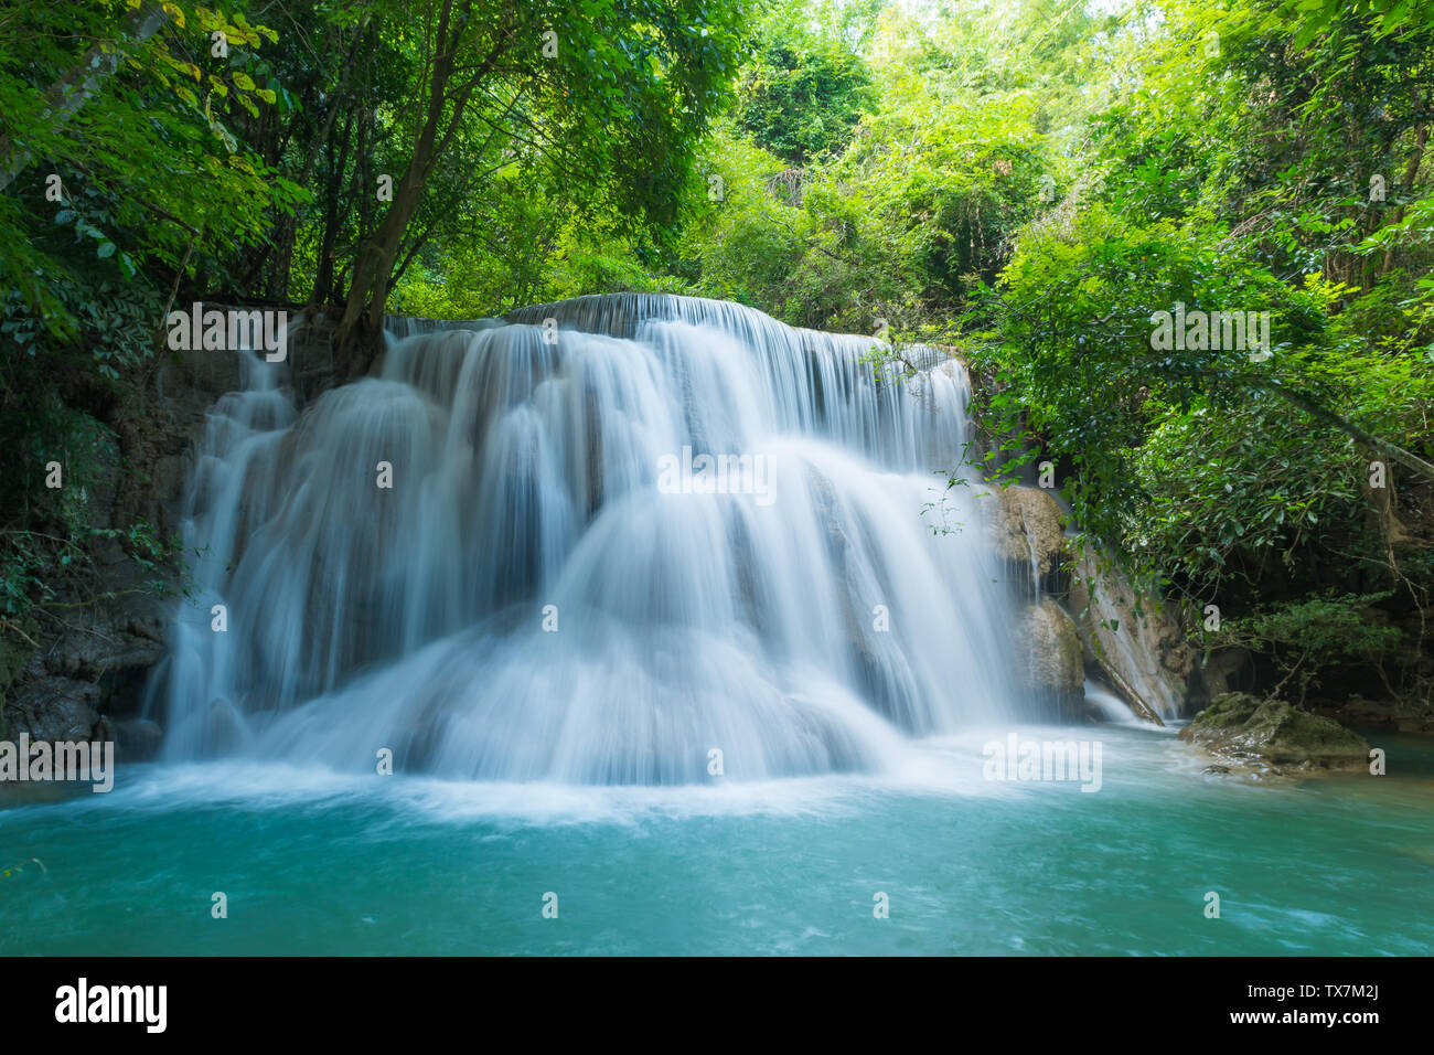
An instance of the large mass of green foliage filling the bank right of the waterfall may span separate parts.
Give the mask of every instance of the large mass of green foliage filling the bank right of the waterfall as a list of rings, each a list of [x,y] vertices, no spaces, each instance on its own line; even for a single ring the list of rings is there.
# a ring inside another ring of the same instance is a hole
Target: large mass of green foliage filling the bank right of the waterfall
[[[1394,583],[1364,494],[1384,454],[1362,438],[1434,451],[1427,43],[1345,19],[1302,46],[1268,6],[1162,10],[1153,37],[1114,40],[1130,90],[1091,115],[1081,177],[971,314],[988,433],[1027,436],[1088,531],[1226,610]],[[1358,197],[1371,169],[1390,202]],[[1176,304],[1268,311],[1271,355],[1162,344]],[[1400,581],[1423,603],[1427,580]]]

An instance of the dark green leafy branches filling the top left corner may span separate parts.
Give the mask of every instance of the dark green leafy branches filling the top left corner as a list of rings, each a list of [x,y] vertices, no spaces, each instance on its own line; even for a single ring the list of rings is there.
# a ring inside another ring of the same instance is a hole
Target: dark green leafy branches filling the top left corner
[[[211,55],[215,30],[227,57]],[[265,39],[277,34],[242,14],[189,3],[0,17],[0,286],[53,342],[85,334],[76,306],[93,287],[162,281],[252,245],[265,210],[295,200],[227,123],[272,102],[251,78]]]

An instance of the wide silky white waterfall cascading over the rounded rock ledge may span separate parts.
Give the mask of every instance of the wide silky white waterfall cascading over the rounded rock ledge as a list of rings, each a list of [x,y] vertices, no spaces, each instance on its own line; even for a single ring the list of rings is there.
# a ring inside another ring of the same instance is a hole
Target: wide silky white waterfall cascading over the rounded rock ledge
[[[303,413],[245,356],[191,485],[169,756],[674,784],[885,769],[1020,716],[1001,573],[932,475],[965,376],[872,346],[581,297],[396,340]]]

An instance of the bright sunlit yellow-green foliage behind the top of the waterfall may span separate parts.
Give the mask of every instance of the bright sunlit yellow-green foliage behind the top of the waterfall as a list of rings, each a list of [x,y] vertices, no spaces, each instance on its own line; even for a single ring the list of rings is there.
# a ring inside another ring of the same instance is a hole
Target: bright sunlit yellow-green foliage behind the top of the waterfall
[[[809,11],[826,19],[810,29],[803,10],[779,9],[766,29],[733,123],[706,155],[724,194],[693,208],[677,270],[704,296],[800,326],[949,336],[1008,260],[1012,231],[1065,182],[1040,131],[1054,96],[971,76],[967,36],[826,7]],[[985,29],[998,37],[989,19]],[[858,60],[862,75],[825,96],[796,88]]]

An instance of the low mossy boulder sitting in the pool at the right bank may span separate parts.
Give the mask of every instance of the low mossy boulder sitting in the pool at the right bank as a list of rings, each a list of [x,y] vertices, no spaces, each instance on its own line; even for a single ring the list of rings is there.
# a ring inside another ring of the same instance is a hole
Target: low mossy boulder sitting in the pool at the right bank
[[[1216,696],[1180,739],[1248,768],[1354,772],[1369,765],[1364,736],[1293,703],[1248,692]]]

